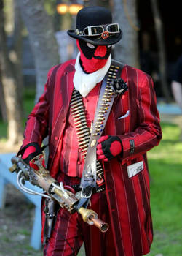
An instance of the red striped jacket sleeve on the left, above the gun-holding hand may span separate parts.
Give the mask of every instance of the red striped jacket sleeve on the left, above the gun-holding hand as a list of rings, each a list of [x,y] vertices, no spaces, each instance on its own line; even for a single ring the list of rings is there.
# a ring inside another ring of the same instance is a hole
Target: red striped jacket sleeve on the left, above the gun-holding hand
[[[23,148],[31,142],[39,143],[48,135],[48,116],[49,116],[49,80],[52,69],[47,74],[47,83],[44,86],[44,93],[41,94],[25,125]]]

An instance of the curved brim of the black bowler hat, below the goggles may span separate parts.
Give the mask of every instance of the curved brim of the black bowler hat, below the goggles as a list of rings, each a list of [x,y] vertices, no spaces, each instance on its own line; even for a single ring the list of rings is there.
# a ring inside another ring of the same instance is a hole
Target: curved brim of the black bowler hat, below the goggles
[[[113,36],[110,36],[106,39],[103,38],[94,38],[94,37],[82,37],[77,34],[75,34],[74,30],[68,30],[67,33],[70,37],[73,37],[75,39],[82,40],[84,42],[90,42],[92,45],[114,45],[116,42],[119,42],[119,40],[122,39],[122,31],[119,29],[119,34],[114,34]]]

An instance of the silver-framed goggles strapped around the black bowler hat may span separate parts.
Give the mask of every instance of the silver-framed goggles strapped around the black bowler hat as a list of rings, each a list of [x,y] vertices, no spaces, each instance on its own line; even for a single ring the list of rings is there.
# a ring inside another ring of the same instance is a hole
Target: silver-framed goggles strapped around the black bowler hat
[[[119,24],[111,23],[99,26],[87,26],[86,28],[84,28],[83,31],[79,31],[79,29],[75,30],[75,33],[77,35],[85,37],[101,36],[104,32],[108,32],[108,34],[119,33]]]

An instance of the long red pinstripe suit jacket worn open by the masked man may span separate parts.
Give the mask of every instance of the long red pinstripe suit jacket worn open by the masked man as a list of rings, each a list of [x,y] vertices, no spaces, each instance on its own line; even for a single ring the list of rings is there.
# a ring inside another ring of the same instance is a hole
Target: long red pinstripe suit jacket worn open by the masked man
[[[71,60],[50,69],[44,94],[28,116],[25,128],[23,146],[31,142],[41,145],[49,135],[48,168],[52,176],[59,171],[63,130],[74,89],[74,63]],[[118,135],[124,152],[122,162],[115,158],[105,164],[106,194],[117,255],[138,256],[149,252],[153,237],[146,151],[158,145],[162,132],[151,77],[126,65],[122,78],[129,89],[115,99],[105,134]],[[128,110],[129,115],[119,119]],[[132,155],[130,140],[135,142]],[[127,165],[140,161],[144,162],[144,169],[128,178]]]

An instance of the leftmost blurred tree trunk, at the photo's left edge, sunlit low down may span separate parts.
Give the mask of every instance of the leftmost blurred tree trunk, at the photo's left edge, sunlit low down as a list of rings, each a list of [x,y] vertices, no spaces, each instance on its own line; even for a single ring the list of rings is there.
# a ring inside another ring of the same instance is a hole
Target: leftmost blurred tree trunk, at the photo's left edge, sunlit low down
[[[2,85],[7,108],[7,137],[8,144],[15,145],[22,140],[21,109],[18,101],[17,84],[13,73],[12,62],[7,49],[7,37],[4,31],[4,3],[0,0],[0,67],[2,72]]]

